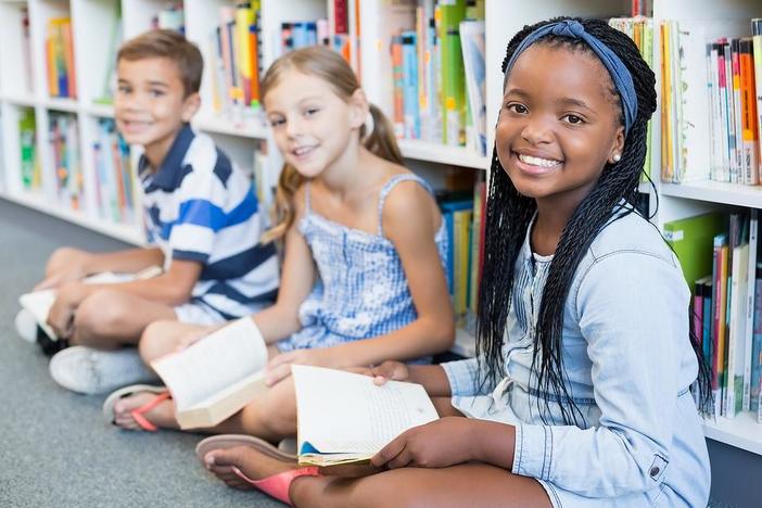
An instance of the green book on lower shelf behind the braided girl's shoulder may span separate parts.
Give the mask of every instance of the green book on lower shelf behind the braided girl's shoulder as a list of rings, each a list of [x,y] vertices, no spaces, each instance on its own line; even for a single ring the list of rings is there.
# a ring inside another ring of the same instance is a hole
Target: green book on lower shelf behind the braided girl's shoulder
[[[664,239],[675,251],[691,291],[698,279],[712,272],[713,238],[726,230],[727,217],[716,212],[664,224]]]

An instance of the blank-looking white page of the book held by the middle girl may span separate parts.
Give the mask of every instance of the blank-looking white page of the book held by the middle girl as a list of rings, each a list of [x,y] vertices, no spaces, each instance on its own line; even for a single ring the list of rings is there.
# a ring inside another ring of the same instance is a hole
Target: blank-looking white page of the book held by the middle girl
[[[151,363],[182,411],[267,365],[267,345],[251,317],[232,321],[179,353]]]

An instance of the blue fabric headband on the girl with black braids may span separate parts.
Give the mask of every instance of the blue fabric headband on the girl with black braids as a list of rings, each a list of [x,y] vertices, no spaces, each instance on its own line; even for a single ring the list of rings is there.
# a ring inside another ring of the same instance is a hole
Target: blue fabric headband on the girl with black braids
[[[622,100],[622,109],[624,110],[624,136],[626,136],[627,132],[630,132],[630,128],[633,126],[635,115],[637,114],[637,94],[635,93],[635,85],[633,85],[633,76],[630,74],[630,71],[627,71],[627,67],[624,65],[622,60],[617,56],[617,53],[611,51],[608,46],[585,31],[585,27],[577,21],[563,20],[558,23],[551,23],[537,28],[532,34],[526,36],[508,61],[508,65],[506,66],[506,79],[508,78],[508,72],[516,63],[516,59],[518,59],[526,48],[536,42],[537,39],[548,34],[569,37],[572,39],[582,39],[587,43],[587,46],[590,47],[595,54],[598,55],[611,75],[614,87],[617,87],[617,91]]]

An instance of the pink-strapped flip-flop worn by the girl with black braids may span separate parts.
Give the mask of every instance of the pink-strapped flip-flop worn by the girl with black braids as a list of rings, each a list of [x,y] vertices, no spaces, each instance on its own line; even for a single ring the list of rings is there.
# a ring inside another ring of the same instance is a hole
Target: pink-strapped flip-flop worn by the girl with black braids
[[[267,455],[268,457],[272,457],[278,460],[292,463],[296,461],[296,456],[281,452],[280,449],[276,448],[275,446],[272,446],[264,440],[254,437],[252,435],[241,434],[224,434],[206,437],[205,440],[201,441],[195,447],[195,455],[201,461],[201,463],[206,466],[204,457],[206,457],[207,453],[212,452],[213,449],[227,449],[236,446],[249,446],[264,455]],[[299,477],[317,477],[320,474],[316,466],[310,466],[306,468],[283,471],[281,473],[274,474],[263,480],[252,480],[236,466],[231,467],[230,469],[233,473],[236,473],[238,478],[240,478],[244,482],[249,483],[250,485],[253,485],[254,487],[258,488],[259,491],[264,492],[269,496],[275,497],[278,500],[285,503],[289,506],[293,506],[291,505],[291,499],[289,498],[289,487],[291,486],[291,482],[293,482],[294,479]]]

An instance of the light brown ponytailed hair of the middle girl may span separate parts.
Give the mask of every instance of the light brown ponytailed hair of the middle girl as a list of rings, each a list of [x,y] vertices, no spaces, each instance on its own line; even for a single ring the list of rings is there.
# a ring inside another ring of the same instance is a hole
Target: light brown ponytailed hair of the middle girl
[[[287,71],[291,69],[325,80],[331,85],[336,96],[347,102],[359,88],[357,76],[339,53],[328,48],[313,46],[291,51],[270,65],[262,80],[263,103],[267,92],[281,81]],[[391,123],[381,110],[372,104],[370,104],[370,115],[373,120],[373,130],[366,138],[366,128],[360,127],[359,136],[363,144],[379,157],[402,164],[402,154]],[[263,236],[264,242],[283,237],[293,224],[293,196],[303,182],[304,177],[293,166],[283,164],[276,191],[277,224]]]

